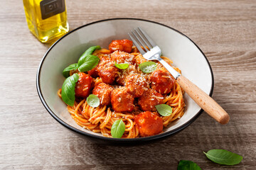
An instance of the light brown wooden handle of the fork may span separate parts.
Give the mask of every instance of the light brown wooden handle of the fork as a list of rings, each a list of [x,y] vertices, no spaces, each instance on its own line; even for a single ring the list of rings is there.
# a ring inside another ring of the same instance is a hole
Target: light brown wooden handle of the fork
[[[228,123],[230,120],[228,113],[226,113],[224,109],[213,100],[213,98],[208,96],[208,94],[199,89],[198,86],[186,79],[186,77],[179,76],[177,78],[177,82],[181,88],[186,91],[188,96],[191,96],[193,101],[195,101],[198,106],[203,108],[203,111],[206,111],[208,115],[210,115],[220,124],[224,125]]]

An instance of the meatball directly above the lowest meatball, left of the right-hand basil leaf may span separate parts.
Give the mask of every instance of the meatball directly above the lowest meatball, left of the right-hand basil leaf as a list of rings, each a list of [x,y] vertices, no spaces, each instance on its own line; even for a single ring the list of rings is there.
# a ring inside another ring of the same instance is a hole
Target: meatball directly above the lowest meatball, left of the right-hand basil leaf
[[[144,91],[144,94],[139,98],[138,104],[142,111],[156,111],[156,105],[162,104],[164,97],[154,91],[148,89]]]

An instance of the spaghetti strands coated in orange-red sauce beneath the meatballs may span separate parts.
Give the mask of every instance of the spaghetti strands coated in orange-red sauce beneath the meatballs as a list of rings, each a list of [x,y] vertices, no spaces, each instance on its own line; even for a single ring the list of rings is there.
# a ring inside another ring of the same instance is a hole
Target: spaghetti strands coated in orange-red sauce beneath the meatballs
[[[95,50],[92,55],[95,55],[102,59],[102,57],[110,57],[112,52],[107,49]],[[146,62],[144,57],[138,52],[136,47],[132,47],[132,52],[129,53],[132,55],[134,59],[137,59],[137,62]],[[167,63],[170,65],[172,61],[168,57],[162,57]],[[165,68],[159,63],[156,62],[157,69],[165,70]],[[132,65],[132,64],[130,64]],[[173,66],[172,66],[173,67]],[[176,71],[181,73],[181,70],[174,67]],[[165,70],[166,71],[166,70]],[[78,70],[70,71],[70,75],[78,72]],[[167,72],[167,71],[166,71]],[[125,74],[139,74],[142,77],[146,77],[148,79],[149,74],[143,73],[137,63],[135,62],[134,68],[129,67],[127,70],[119,70],[118,76],[122,79],[122,76]],[[126,76],[127,76],[126,75]],[[94,77],[92,78],[92,87],[95,87],[99,84],[102,84],[104,81],[102,77]],[[150,82],[147,84],[149,86]],[[119,88],[120,84],[114,83],[111,85],[113,89]],[[124,84],[125,86],[125,84]],[[183,99],[184,91],[181,89],[181,86],[174,82],[174,85],[171,87],[171,91],[168,94],[163,94],[164,99],[161,99],[163,104],[171,106],[173,113],[168,116],[159,116],[163,122],[164,127],[169,125],[174,120],[181,118],[184,114],[185,103]],[[61,98],[61,89],[58,90],[58,96]],[[150,99],[150,98],[149,98]],[[104,98],[102,98],[104,100]],[[118,100],[118,98],[117,98]],[[101,101],[102,103],[102,101]],[[134,102],[133,111],[113,111],[112,106],[98,106],[93,108],[88,105],[86,98],[75,98],[75,103],[73,106],[67,106],[68,112],[72,116],[75,123],[80,125],[82,128],[87,130],[91,130],[92,132],[101,133],[105,137],[112,137],[111,128],[113,123],[116,120],[122,119],[125,125],[124,134],[122,138],[134,138],[140,137],[139,135],[139,126],[136,125],[135,117],[142,112],[142,109],[139,107],[137,100]]]

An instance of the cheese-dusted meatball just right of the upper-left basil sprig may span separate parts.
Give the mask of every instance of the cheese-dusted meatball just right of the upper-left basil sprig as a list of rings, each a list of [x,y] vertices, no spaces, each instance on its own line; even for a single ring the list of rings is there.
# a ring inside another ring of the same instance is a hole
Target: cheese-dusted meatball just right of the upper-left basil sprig
[[[114,66],[114,62],[109,57],[102,57],[97,67],[100,78],[106,84],[113,84],[114,79],[117,77],[117,67]]]

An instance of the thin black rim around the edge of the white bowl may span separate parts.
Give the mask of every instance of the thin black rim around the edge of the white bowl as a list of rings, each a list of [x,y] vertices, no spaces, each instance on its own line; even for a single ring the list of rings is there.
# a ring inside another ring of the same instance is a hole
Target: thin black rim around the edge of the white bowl
[[[163,138],[163,137],[167,137],[167,136],[170,136],[170,135],[174,135],[176,134],[177,132],[180,132],[181,130],[183,130],[184,128],[186,128],[188,125],[190,125],[191,123],[193,123],[193,121],[195,121],[199,115],[201,115],[201,113],[203,112],[203,110],[201,109],[200,111],[198,111],[198,113],[196,113],[196,115],[193,116],[193,118],[191,118],[191,120],[188,120],[188,122],[186,122],[184,125],[181,125],[180,127],[178,128],[175,128],[174,130],[170,130],[168,132],[163,132],[159,135],[154,135],[154,136],[149,136],[149,137],[138,137],[138,138],[130,138],[130,139],[119,139],[119,138],[112,138],[112,137],[104,137],[104,136],[99,136],[99,135],[92,135],[88,132],[85,132],[85,131],[82,131],[82,130],[78,130],[77,128],[74,128],[73,126],[70,126],[68,125],[67,123],[65,123],[63,120],[61,120],[60,118],[58,118],[57,115],[55,115],[55,113],[53,113],[53,111],[51,111],[51,109],[49,108],[48,104],[46,103],[46,101],[44,100],[43,98],[43,94],[41,93],[41,88],[40,88],[40,71],[41,71],[41,66],[43,64],[43,61],[46,59],[48,53],[50,52],[50,50],[58,43],[60,42],[61,40],[63,40],[63,38],[65,38],[66,36],[70,35],[71,33],[75,32],[76,30],[79,30],[80,28],[84,28],[86,26],[90,26],[92,24],[95,24],[95,23],[100,23],[100,22],[105,22],[105,21],[113,21],[113,20],[137,20],[137,21],[146,21],[146,22],[150,22],[150,23],[155,23],[155,24],[159,24],[160,26],[165,26],[166,28],[169,28],[171,30],[174,30],[176,31],[177,33],[185,36],[186,38],[188,38],[188,36],[184,35],[183,33],[181,33],[180,31],[174,29],[174,28],[171,28],[170,26],[166,26],[162,23],[157,23],[155,21],[149,21],[149,20],[145,20],[145,19],[141,19],[141,18],[109,18],[109,19],[105,19],[105,20],[100,20],[100,21],[95,21],[95,22],[92,22],[92,23],[87,23],[85,24],[84,26],[80,26],[78,28],[75,28],[74,30],[71,30],[69,33],[63,35],[62,38],[60,38],[59,40],[57,40],[46,52],[46,54],[43,56],[43,59],[41,60],[40,64],[39,64],[39,67],[38,67],[38,72],[36,74],[36,89],[38,91],[38,96],[39,98],[41,99],[42,103],[43,103],[43,106],[46,108],[46,110],[50,113],[50,115],[53,116],[53,118],[55,118],[55,120],[57,120],[61,125],[65,126],[66,128],[70,129],[70,130],[73,130],[74,132],[78,132],[80,133],[81,135],[86,135],[86,136],[89,136],[89,137],[94,137],[94,138],[97,138],[97,139],[100,139],[100,140],[107,140],[107,141],[110,141],[110,142],[137,142],[137,141],[140,141],[140,142],[143,142],[143,141],[149,141],[149,140],[156,140],[156,139],[159,139],[159,138]],[[193,42],[193,40],[191,40],[190,38],[188,38],[188,40],[190,40],[191,42]],[[193,42],[194,45],[196,45],[195,42]],[[204,55],[203,51],[198,47],[198,45],[196,45],[196,47],[198,48],[198,50],[200,50],[200,52],[203,54],[203,56],[206,58],[206,55]],[[211,74],[211,77],[212,77],[212,86],[211,86],[211,89],[210,89],[210,96],[212,96],[213,94],[213,86],[214,86],[214,79],[213,79],[213,70],[212,68],[210,67],[210,62],[208,61],[208,59],[206,58],[206,61],[208,63],[208,67],[210,68],[210,74]]]

